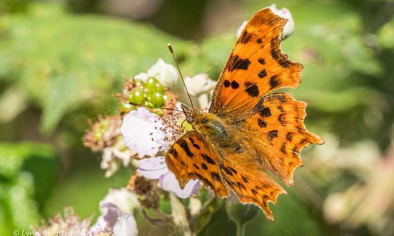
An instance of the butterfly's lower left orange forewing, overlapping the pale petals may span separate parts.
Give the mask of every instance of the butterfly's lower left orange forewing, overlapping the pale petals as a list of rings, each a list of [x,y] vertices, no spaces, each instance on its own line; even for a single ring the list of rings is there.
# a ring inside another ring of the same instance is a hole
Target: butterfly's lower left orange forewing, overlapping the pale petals
[[[218,198],[230,195],[219,173],[218,154],[196,131],[178,139],[165,154],[168,169],[183,189],[191,179],[199,179]]]

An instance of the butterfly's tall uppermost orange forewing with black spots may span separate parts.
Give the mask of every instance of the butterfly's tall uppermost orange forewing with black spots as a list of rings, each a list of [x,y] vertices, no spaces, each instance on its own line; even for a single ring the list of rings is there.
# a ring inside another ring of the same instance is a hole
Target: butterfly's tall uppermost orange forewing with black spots
[[[286,22],[269,8],[252,16],[218,80],[209,112],[219,117],[243,114],[269,92],[299,85],[302,65],[280,49]]]

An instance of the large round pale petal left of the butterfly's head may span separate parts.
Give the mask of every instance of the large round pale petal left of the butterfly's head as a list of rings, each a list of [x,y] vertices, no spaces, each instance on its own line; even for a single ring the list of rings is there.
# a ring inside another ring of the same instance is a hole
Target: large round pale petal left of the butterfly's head
[[[142,107],[127,114],[121,127],[126,146],[141,156],[156,154],[159,147],[163,146],[164,138],[160,130],[164,125],[157,120],[160,119],[156,114]]]

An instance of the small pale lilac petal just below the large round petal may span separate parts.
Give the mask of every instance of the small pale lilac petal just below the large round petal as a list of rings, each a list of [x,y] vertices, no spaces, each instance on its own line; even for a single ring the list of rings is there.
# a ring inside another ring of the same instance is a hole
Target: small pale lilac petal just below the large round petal
[[[158,179],[168,172],[164,156],[145,158],[139,161],[139,169],[137,170],[144,177],[150,179]]]

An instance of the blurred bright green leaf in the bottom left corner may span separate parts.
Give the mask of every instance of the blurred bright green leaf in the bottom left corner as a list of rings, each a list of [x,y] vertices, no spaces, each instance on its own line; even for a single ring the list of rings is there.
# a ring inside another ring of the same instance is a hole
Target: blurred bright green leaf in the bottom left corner
[[[39,222],[59,173],[56,150],[40,143],[0,143],[0,233]]]

